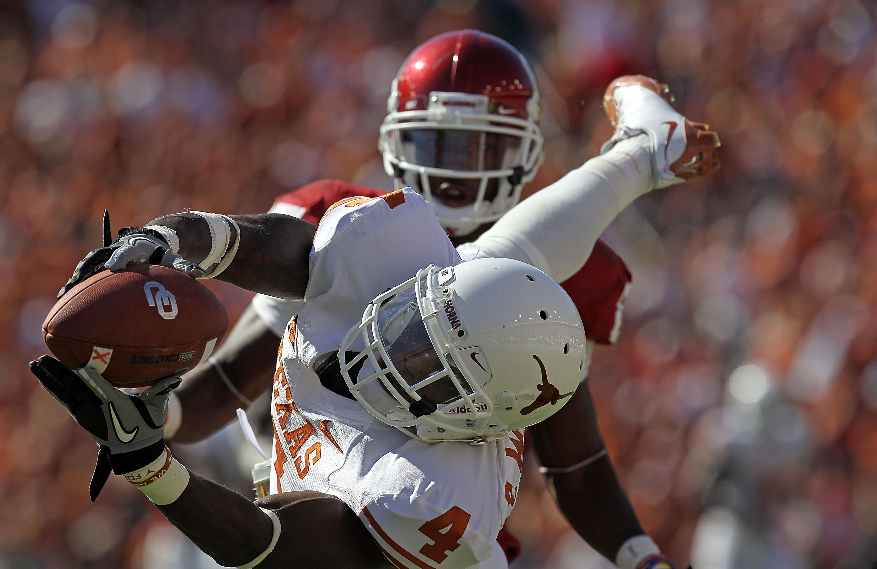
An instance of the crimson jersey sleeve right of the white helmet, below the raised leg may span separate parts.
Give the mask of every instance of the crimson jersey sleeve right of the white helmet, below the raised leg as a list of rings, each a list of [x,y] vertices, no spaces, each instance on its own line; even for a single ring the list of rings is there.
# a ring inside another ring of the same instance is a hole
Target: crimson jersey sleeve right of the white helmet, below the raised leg
[[[631,287],[631,271],[617,252],[597,239],[585,266],[560,286],[579,309],[585,337],[597,344],[615,343],[624,296]]]

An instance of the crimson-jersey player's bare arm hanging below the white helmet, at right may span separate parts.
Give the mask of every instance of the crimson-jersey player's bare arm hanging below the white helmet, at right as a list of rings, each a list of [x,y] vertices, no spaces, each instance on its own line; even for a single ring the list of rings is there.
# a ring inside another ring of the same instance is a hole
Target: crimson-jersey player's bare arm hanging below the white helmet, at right
[[[572,466],[601,452],[605,445],[588,382],[557,413],[531,426],[530,437],[542,466]],[[645,533],[608,455],[546,478],[573,529],[610,561],[627,539]]]

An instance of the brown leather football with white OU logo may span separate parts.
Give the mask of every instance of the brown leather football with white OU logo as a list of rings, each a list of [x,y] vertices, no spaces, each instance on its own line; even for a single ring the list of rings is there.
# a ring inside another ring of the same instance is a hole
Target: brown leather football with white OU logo
[[[182,375],[210,356],[228,314],[210,289],[160,265],[103,271],[71,288],[43,323],[65,366],[94,367],[118,387]]]

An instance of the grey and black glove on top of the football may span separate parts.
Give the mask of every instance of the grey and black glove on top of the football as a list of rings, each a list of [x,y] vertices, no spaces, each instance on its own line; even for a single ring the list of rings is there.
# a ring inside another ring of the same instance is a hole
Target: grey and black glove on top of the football
[[[118,238],[111,242],[110,214],[103,214],[103,247],[89,252],[79,261],[73,276],[58,291],[58,298],[68,290],[103,270],[121,271],[128,265],[148,263],[181,271],[193,278],[203,276],[204,270],[173,252],[168,241],[158,231],[147,227],[124,227]]]

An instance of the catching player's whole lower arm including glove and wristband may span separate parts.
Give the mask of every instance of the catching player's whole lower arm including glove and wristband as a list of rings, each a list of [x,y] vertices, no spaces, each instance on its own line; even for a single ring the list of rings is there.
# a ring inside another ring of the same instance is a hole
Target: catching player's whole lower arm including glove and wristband
[[[30,367],[100,445],[92,501],[111,471],[122,474],[221,565],[391,567],[344,502],[310,492],[276,494],[253,504],[171,457],[161,419],[179,378],[128,395],[90,367],[73,372],[51,356]]]

